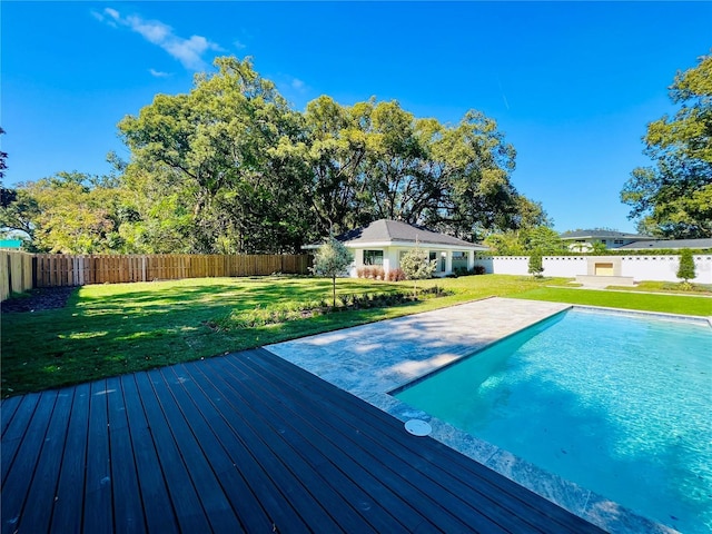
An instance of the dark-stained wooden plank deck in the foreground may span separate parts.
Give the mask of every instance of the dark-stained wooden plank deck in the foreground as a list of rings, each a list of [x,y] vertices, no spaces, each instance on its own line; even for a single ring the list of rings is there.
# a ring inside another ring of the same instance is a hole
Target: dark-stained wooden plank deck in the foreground
[[[257,349],[1,405],[2,533],[603,532]]]

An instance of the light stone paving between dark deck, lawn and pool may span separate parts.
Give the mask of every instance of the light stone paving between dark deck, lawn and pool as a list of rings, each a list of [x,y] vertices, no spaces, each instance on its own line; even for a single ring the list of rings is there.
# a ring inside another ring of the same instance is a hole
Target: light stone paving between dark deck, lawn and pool
[[[571,307],[570,304],[494,297],[265,348],[400,421],[427,421],[433,427],[431,437],[609,532],[675,532],[388,394]]]

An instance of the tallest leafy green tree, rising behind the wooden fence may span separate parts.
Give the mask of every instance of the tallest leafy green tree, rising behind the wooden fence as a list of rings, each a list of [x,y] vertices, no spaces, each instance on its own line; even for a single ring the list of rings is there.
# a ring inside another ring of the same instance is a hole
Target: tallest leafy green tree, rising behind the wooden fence
[[[215,66],[189,93],[158,95],[121,120],[127,172],[180,197],[174,227],[187,233],[190,251],[298,250],[314,227],[304,118],[249,59]]]

